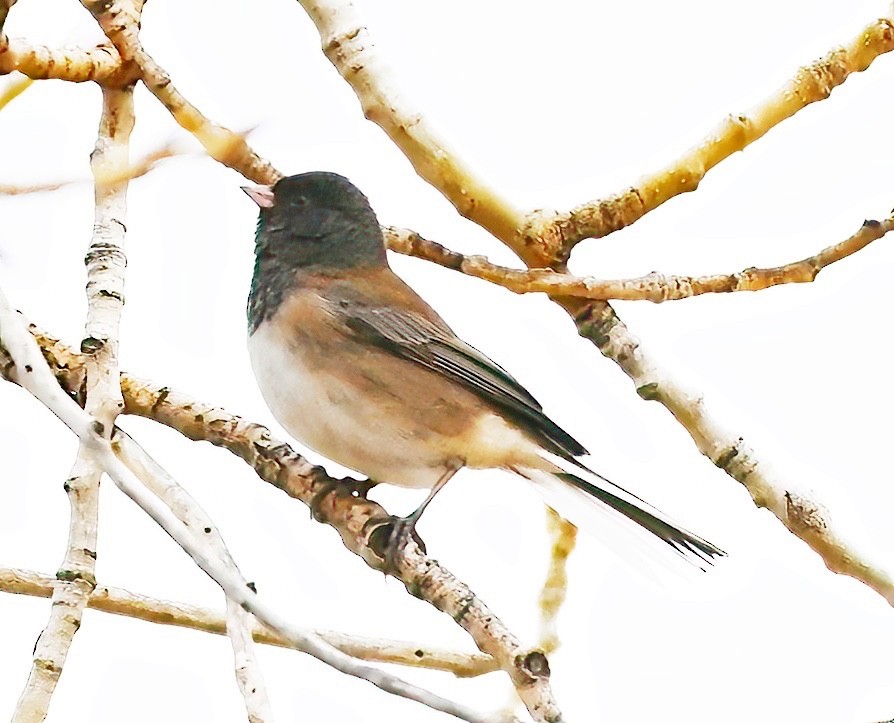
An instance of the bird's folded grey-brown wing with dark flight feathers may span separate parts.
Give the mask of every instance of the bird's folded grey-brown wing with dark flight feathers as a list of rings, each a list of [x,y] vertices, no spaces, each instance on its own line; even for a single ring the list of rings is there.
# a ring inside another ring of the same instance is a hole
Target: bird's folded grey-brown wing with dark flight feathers
[[[450,327],[398,277],[382,279],[392,288],[363,293],[356,283],[332,284],[325,292],[332,313],[349,333],[402,359],[443,374],[488,402],[550,452],[565,458],[587,454],[583,445],[543,413],[540,403],[505,369],[456,336]],[[408,293],[409,292],[409,293]],[[402,303],[383,304],[394,298]],[[407,303],[412,302],[412,303]]]

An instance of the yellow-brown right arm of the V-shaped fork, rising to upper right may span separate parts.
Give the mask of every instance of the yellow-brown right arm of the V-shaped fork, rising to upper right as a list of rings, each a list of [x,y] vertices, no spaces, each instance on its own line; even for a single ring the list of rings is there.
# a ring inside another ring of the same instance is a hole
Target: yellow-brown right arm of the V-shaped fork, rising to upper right
[[[574,245],[600,238],[638,221],[665,201],[694,191],[708,171],[763,137],[811,103],[825,100],[852,73],[866,70],[878,56],[894,50],[894,23],[869,23],[846,46],[799,68],[794,77],[747,113],[724,119],[699,145],[666,168],[640,179],[610,198],[565,213],[535,211],[522,236],[542,245],[544,256],[565,261]]]

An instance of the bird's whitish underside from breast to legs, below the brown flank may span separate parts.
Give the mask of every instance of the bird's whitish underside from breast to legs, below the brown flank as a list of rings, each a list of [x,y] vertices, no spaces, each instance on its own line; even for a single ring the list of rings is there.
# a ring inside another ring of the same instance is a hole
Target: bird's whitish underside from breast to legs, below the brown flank
[[[307,447],[377,482],[431,487],[446,460],[422,440],[400,435],[376,400],[360,399],[326,368],[311,367],[301,349],[262,323],[249,337],[252,369],[273,416]]]

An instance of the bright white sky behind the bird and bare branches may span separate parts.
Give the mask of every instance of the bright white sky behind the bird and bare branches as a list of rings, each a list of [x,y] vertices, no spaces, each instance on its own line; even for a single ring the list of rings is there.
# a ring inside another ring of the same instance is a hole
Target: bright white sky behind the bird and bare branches
[[[887,3],[683,0],[513,4],[357,2],[395,80],[463,158],[522,208],[567,208],[633,183],[747,110],[798,65],[849,41]],[[250,9],[249,9],[250,8]],[[285,172],[334,170],[385,224],[515,263],[420,181],[318,50],[297,3],[152,0],[148,51],[206,114]],[[91,43],[73,0],[29,0],[10,35]],[[853,76],[633,227],[586,241],[572,270],[603,277],[733,272],[816,252],[894,205],[894,54]],[[184,134],[139,89],[134,156]],[[0,113],[0,182],[89,178],[99,91],[42,83]],[[189,143],[189,141],[186,141]],[[131,185],[122,366],[280,428],[248,366],[244,301],[256,211],[237,174],[199,156]],[[76,343],[92,188],[0,199],[0,280],[13,304]],[[827,572],[685,432],[580,340],[564,312],[420,261],[393,259],[470,343],[508,367],[587,447],[730,558],[697,583],[644,582],[581,535],[562,612],[553,685],[569,721],[853,721],[894,716],[894,614],[874,592]],[[813,285],[618,304],[632,330],[792,486],[894,559],[887,452],[894,399],[883,240]],[[53,573],[75,440],[46,410],[0,386],[0,565]],[[446,616],[347,553],[336,533],[260,483],[230,454],[124,419],[216,521],[246,576],[308,627],[470,649]],[[329,467],[340,472],[334,466]],[[408,511],[419,492],[377,490]],[[106,484],[103,584],[219,607],[219,590]],[[542,506],[502,473],[463,472],[427,512],[429,551],[526,642],[537,634],[546,565]],[[0,597],[0,711],[11,711],[48,613]],[[262,650],[280,721],[426,721],[442,715],[349,680],[298,653]],[[88,611],[50,721],[244,720],[226,639]],[[508,700],[500,675],[401,675],[481,709]]]

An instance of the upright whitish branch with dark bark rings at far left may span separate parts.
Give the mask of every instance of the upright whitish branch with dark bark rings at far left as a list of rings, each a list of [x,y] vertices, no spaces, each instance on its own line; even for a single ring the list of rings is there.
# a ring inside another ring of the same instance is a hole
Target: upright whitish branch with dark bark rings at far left
[[[118,325],[124,303],[123,251],[127,182],[106,184],[100,169],[127,163],[133,130],[133,87],[103,88],[102,117],[91,167],[96,181],[93,239],[87,252],[87,321],[82,349],[86,355],[88,415],[111,430],[124,407],[119,385]],[[99,479],[102,467],[82,444],[65,483],[71,505],[68,549],[57,577],[50,619],[34,648],[31,673],[19,698],[16,723],[42,721],[81,624],[87,600],[96,587],[96,537],[99,526]]]

